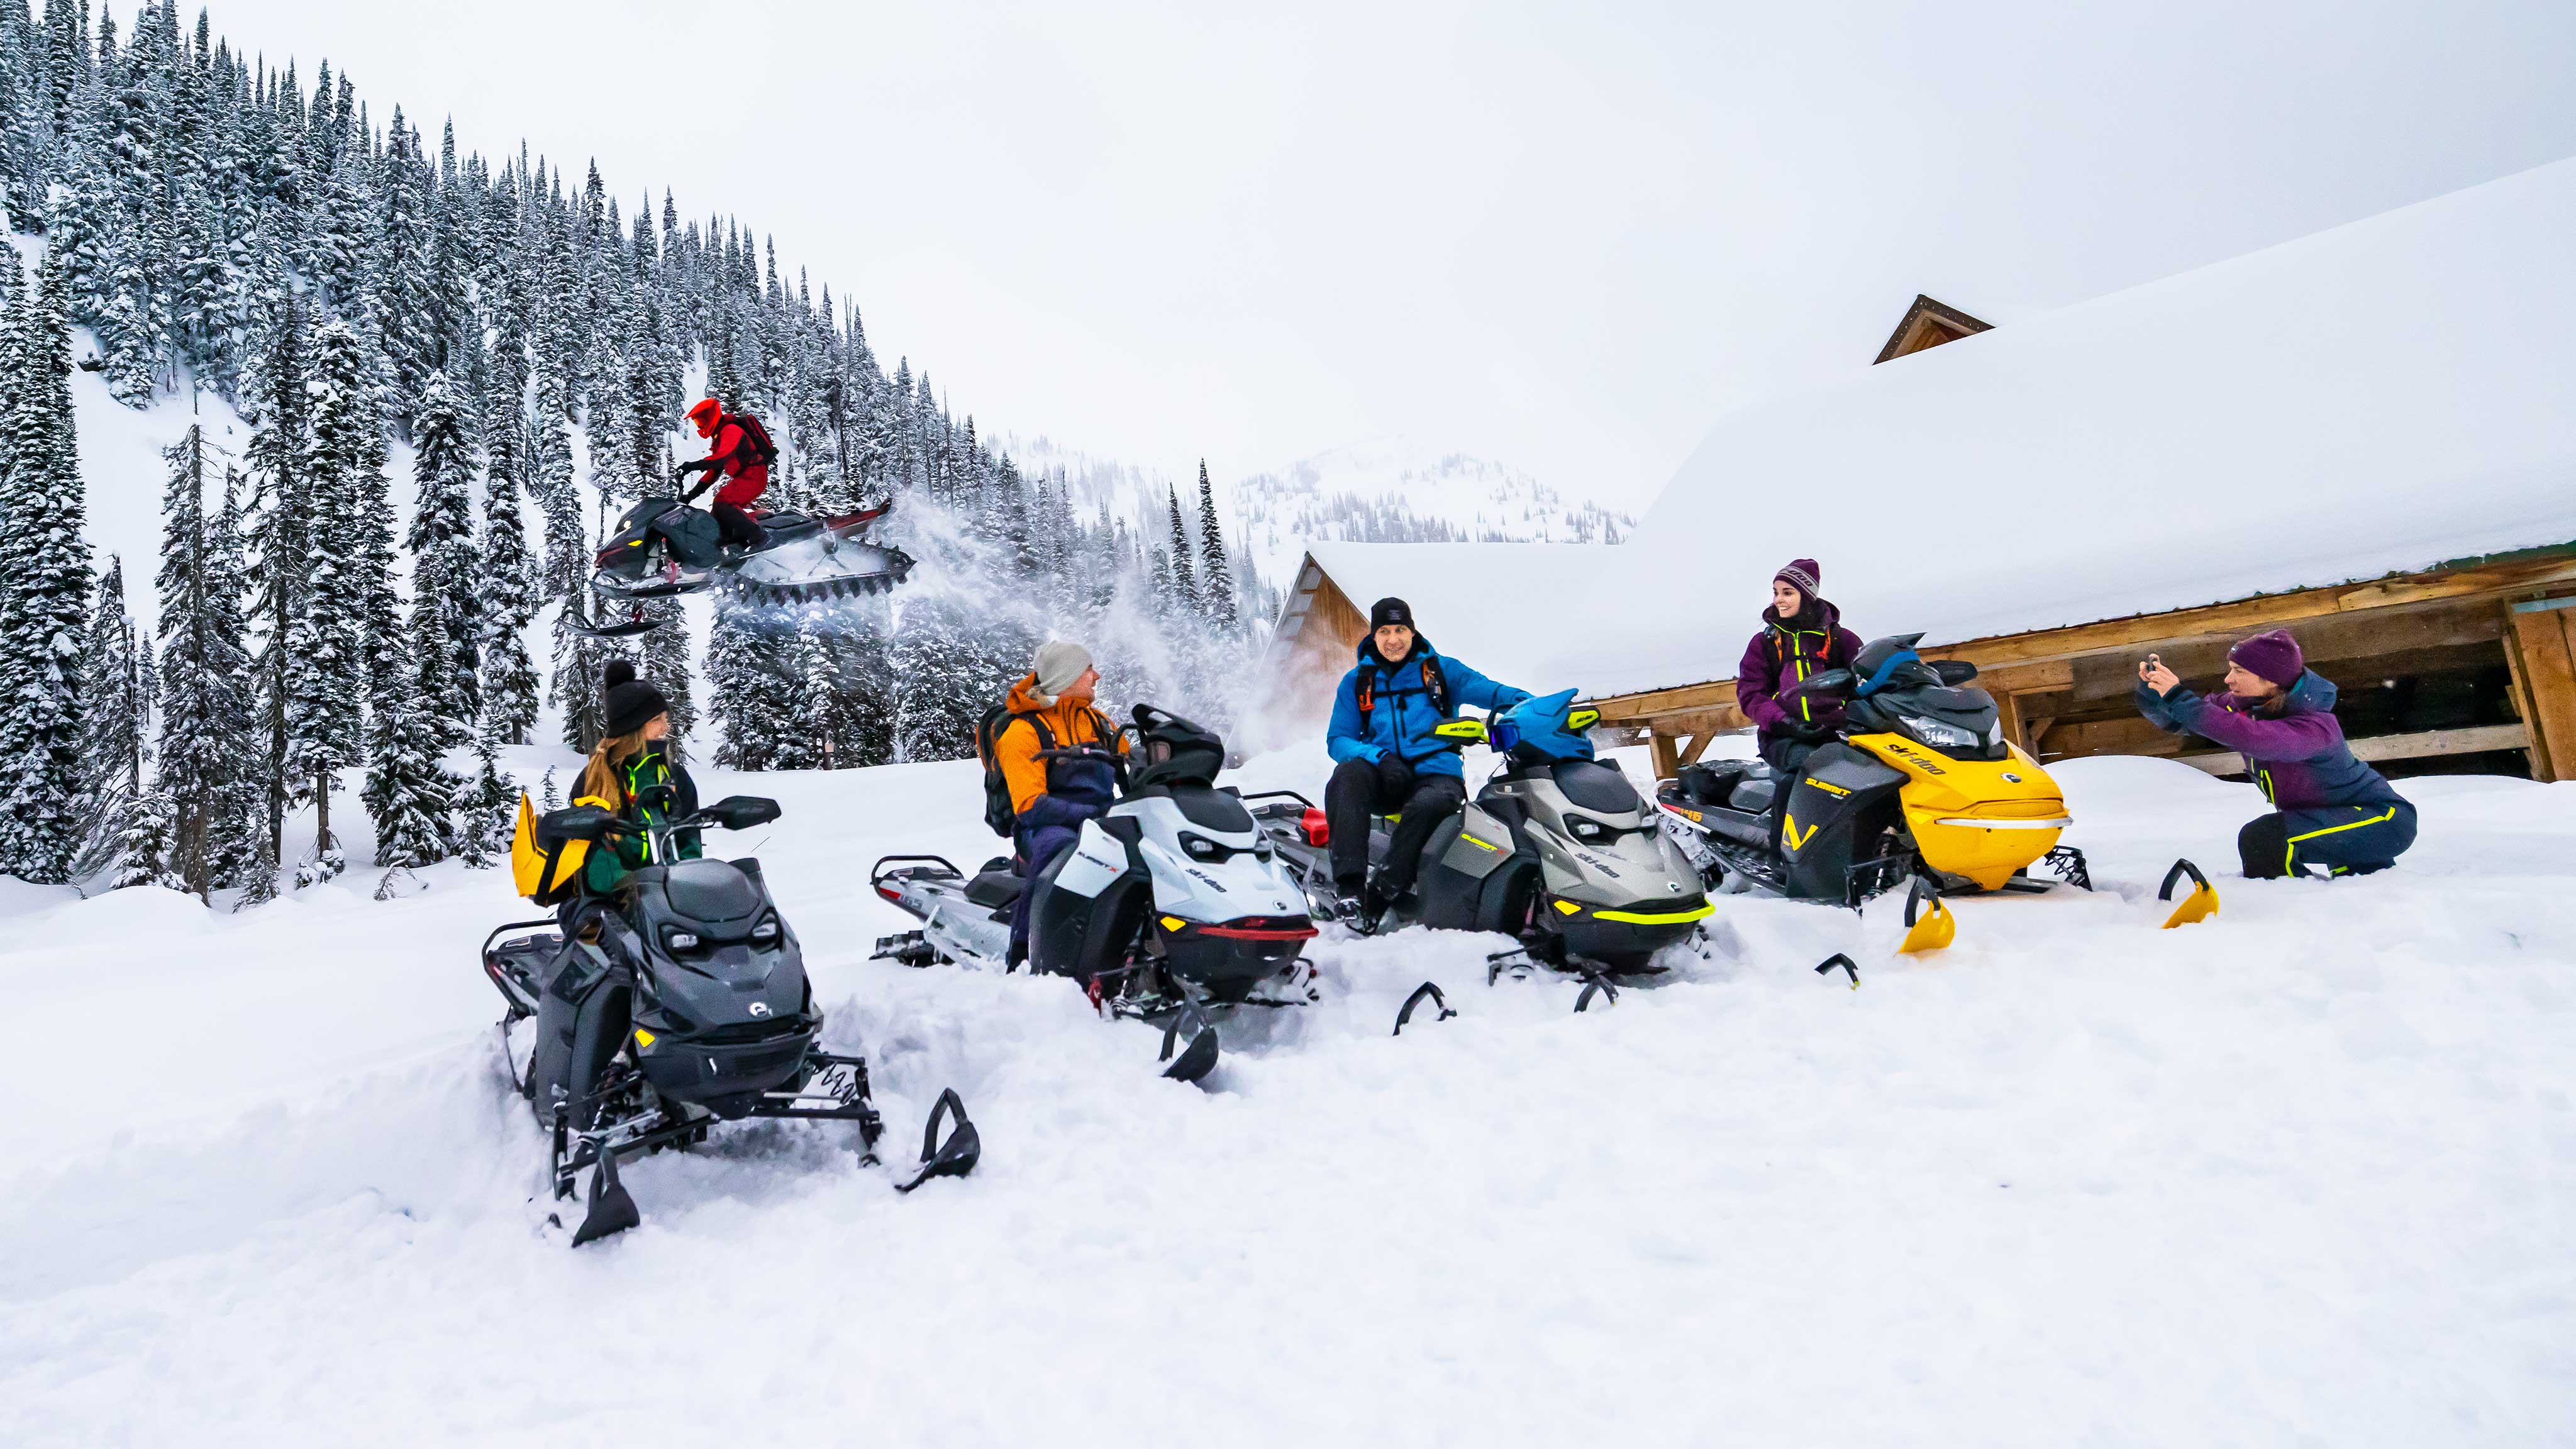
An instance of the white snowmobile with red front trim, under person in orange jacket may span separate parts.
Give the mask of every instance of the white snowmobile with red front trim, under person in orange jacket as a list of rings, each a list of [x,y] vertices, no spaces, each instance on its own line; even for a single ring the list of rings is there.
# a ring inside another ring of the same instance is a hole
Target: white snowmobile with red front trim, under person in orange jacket
[[[1216,1067],[1216,1016],[1314,1000],[1298,951],[1316,931],[1244,799],[1216,786],[1224,740],[1151,704],[1121,732],[1136,761],[1123,794],[1038,879],[1010,859],[974,877],[940,856],[876,861],[868,884],[922,923],[876,954],[1010,969],[1010,913],[1036,892],[1030,969],[1074,977],[1103,1011],[1162,1026],[1164,1075],[1198,1080]]]

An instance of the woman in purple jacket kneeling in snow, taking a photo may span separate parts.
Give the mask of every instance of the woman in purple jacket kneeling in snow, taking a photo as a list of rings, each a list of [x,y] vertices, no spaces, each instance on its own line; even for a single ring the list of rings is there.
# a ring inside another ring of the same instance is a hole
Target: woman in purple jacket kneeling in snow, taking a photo
[[[2272,815],[2236,833],[2249,877],[2385,871],[2414,846],[2414,804],[2344,745],[2334,681],[2318,676],[2287,629],[2228,650],[2228,691],[2192,694],[2148,655],[2138,663],[2138,714],[2174,735],[2200,735],[2246,758]]]

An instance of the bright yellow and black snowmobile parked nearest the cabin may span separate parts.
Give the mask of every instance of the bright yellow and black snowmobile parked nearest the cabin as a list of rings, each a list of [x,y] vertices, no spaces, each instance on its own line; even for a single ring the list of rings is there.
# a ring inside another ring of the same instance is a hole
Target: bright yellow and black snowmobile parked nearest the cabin
[[[1793,900],[1857,908],[1922,877],[1937,892],[2048,890],[2027,877],[2045,861],[2092,890],[2084,853],[2058,846],[2074,822],[2058,781],[2004,740],[1976,665],[1929,663],[1922,634],[1870,642],[1847,670],[1824,670],[1785,701],[1844,701],[1842,730],[1783,776],[1762,761],[1682,766],[1656,807],[1710,887],[1736,877]]]

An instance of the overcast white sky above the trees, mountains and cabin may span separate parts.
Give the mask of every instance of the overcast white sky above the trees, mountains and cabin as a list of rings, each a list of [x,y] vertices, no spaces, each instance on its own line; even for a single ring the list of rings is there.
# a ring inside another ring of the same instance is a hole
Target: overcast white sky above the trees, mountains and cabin
[[[2009,325],[2576,155],[2566,0],[214,26],[350,70],[379,121],[453,113],[775,232],[987,428],[1221,474],[1404,431],[1631,503],[1734,402],[1868,364],[1917,291]]]

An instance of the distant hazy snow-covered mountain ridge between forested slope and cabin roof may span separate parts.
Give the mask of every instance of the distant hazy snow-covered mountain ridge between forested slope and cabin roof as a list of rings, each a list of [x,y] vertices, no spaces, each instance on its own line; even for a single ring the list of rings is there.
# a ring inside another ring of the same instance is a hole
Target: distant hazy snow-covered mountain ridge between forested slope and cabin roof
[[[1108,505],[1113,518],[1157,523],[1167,490],[1195,508],[1198,480],[1059,449],[1046,438],[1010,438],[1028,472],[1069,482],[1077,511]],[[1234,474],[1211,469],[1229,536],[1249,544],[1260,572],[1280,585],[1314,539],[1368,544],[1435,541],[1569,541],[1625,539],[1636,518],[1584,498],[1566,498],[1535,477],[1471,454],[1427,449],[1412,438],[1370,438],[1296,459],[1278,469]]]

